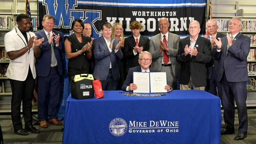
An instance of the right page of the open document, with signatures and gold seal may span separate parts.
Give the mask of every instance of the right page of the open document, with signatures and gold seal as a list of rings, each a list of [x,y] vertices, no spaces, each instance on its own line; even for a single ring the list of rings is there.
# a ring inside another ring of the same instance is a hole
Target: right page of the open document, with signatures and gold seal
[[[166,72],[150,73],[150,92],[167,92],[166,85]]]

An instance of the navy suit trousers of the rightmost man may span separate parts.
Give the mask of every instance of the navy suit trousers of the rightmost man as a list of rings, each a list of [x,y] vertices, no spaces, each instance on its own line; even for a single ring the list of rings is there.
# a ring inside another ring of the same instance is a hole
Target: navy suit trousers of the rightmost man
[[[225,113],[225,122],[227,129],[234,130],[235,122],[235,104],[237,105],[238,113],[238,132],[247,134],[248,129],[248,117],[247,117],[247,90],[246,81],[243,82],[229,82],[226,79],[225,71],[223,72],[222,80],[220,84],[223,86],[222,91],[222,107]]]

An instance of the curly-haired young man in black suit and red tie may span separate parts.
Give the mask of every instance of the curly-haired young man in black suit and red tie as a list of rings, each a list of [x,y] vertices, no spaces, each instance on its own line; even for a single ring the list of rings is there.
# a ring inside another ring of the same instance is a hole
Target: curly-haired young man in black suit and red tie
[[[130,29],[132,36],[125,38],[124,42],[124,56],[127,60],[126,73],[130,68],[139,65],[138,58],[142,51],[149,51],[149,38],[140,34],[141,23],[136,20],[131,22]]]

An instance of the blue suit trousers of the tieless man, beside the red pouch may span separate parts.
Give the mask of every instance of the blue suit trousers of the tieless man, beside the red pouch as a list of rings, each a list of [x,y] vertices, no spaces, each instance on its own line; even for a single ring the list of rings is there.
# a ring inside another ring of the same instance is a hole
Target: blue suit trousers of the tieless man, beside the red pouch
[[[115,91],[117,89],[117,80],[114,80],[112,70],[109,69],[109,75],[107,80],[101,80],[103,91]]]

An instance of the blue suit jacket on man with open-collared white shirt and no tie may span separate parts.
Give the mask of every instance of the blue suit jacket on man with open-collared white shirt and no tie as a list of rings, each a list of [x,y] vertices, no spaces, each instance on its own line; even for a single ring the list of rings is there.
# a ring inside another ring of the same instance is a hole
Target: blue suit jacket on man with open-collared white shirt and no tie
[[[111,37],[110,41],[114,38]],[[115,53],[114,49],[118,44],[118,40],[115,39],[113,42],[112,52],[109,52],[109,48],[103,36],[96,38],[92,42],[92,52],[95,57],[95,68],[93,71],[93,76],[98,77],[100,80],[107,80],[109,75],[109,66],[111,62],[112,73],[114,80],[117,80],[119,75],[119,68],[117,64],[117,58],[123,58],[123,53],[121,48]]]

